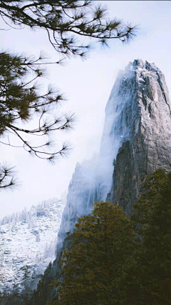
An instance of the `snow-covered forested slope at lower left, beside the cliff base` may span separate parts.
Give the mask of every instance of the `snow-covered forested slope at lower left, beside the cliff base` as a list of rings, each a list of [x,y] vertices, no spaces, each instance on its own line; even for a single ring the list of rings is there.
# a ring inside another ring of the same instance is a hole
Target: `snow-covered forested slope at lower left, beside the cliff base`
[[[29,211],[5,216],[0,229],[0,295],[36,289],[55,259],[64,200],[50,199]]]

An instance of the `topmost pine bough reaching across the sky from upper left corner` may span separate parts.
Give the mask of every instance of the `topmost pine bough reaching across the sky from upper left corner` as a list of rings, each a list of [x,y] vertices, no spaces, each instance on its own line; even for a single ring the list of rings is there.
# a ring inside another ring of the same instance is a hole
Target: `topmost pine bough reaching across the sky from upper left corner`
[[[65,56],[85,57],[92,39],[108,45],[110,39],[126,42],[135,36],[136,26],[110,20],[106,13],[106,6],[88,0],[0,1],[0,16],[6,24],[45,30],[53,48]]]

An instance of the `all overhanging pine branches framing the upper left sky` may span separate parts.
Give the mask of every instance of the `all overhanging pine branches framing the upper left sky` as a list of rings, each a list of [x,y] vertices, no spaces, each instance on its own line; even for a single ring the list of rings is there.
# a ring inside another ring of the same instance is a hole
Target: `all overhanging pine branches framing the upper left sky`
[[[110,39],[123,42],[133,39],[137,26],[126,25],[116,18],[110,20],[106,14],[105,6],[88,0],[0,1],[0,16],[5,24],[14,29],[24,29],[24,26],[43,29],[58,54],[68,57],[86,57],[91,41],[108,45]],[[50,64],[43,60],[43,56],[35,59],[0,53],[0,137],[7,135],[7,141],[1,141],[1,144],[16,147],[16,142],[13,144],[9,139],[9,134],[14,134],[21,141],[17,147],[23,147],[38,158],[54,161],[57,156],[66,155],[69,146],[64,143],[56,151],[50,151],[49,136],[56,130],[71,129],[74,116],[63,114],[54,118],[49,114],[64,98],[51,86],[46,94],[39,92],[36,80],[43,76],[43,64]],[[36,128],[25,129],[21,123],[30,121],[36,114]],[[43,136],[43,144],[32,144],[31,136]],[[0,172],[4,173],[4,166],[0,165]],[[15,184],[9,173],[11,175],[11,168],[6,171],[5,177],[9,179],[6,184],[6,179],[2,183],[0,177],[3,189]]]

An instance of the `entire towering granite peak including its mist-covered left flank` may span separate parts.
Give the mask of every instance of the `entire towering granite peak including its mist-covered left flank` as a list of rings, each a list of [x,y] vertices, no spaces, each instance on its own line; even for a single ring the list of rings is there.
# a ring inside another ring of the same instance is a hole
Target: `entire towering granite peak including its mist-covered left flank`
[[[56,295],[56,289],[47,287],[59,277],[61,248],[71,246],[78,216],[90,214],[93,203],[106,198],[129,216],[147,174],[157,167],[169,170],[170,161],[171,116],[165,77],[155,64],[138,59],[115,81],[105,109],[99,156],[76,166],[58,233],[56,260],[38,285],[33,304],[44,305]]]

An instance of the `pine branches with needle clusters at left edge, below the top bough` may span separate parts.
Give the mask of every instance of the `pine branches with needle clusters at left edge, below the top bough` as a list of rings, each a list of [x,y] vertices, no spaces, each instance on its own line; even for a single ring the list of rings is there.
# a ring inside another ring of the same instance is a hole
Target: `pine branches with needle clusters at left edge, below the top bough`
[[[7,52],[0,53],[0,137],[6,136],[6,140],[0,143],[24,148],[33,156],[54,161],[58,156],[68,153],[69,145],[63,143],[56,151],[51,151],[53,142],[50,136],[53,131],[71,129],[74,116],[56,114],[56,107],[62,103],[64,97],[52,86],[48,86],[44,94],[40,92],[40,84],[36,81],[44,74],[43,60],[42,54],[35,59]],[[32,120],[35,127],[26,128],[24,123]],[[14,136],[18,139],[15,140]],[[33,144],[35,136],[42,138],[41,141],[36,141],[36,145]],[[11,167],[1,164],[0,189],[14,187],[14,176]]]

